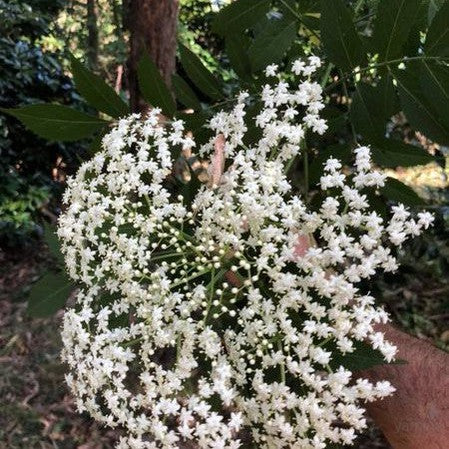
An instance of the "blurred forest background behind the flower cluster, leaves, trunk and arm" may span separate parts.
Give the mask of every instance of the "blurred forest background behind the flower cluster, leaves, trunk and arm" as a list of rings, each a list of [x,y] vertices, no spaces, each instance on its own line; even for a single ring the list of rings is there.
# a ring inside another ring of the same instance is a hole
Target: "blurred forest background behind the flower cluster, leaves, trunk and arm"
[[[348,3],[356,4],[357,23],[369,29],[376,1]],[[422,3],[427,19],[443,2]],[[200,56],[231,91],[237,86],[235,73],[223,39],[211,30],[219,6],[210,0],[181,0],[178,41]],[[133,26],[128,7],[121,0],[0,0],[0,107],[47,102],[92,113],[74,87],[70,54],[126,96]],[[316,14],[309,20],[316,20]],[[299,33],[300,39],[304,36],[308,45],[319,39],[306,29]],[[300,47],[302,41],[294,45]],[[343,97],[349,100],[347,93]],[[345,101],[341,104],[345,106]],[[404,142],[435,156],[429,164],[397,163],[385,170],[423,198],[437,219],[430,232],[404,248],[401,271],[379,278],[372,288],[398,325],[448,350],[449,149],[412,130],[400,112],[388,127]],[[351,129],[345,129],[343,139],[349,141]],[[55,222],[65,179],[89,157],[91,145],[88,139],[49,142],[15,118],[0,114],[1,449],[112,447],[112,431],[78,416],[65,389],[58,358],[60,313],[36,319],[26,311],[31,285],[55,263],[42,239],[44,224]],[[358,447],[389,446],[373,427]]]

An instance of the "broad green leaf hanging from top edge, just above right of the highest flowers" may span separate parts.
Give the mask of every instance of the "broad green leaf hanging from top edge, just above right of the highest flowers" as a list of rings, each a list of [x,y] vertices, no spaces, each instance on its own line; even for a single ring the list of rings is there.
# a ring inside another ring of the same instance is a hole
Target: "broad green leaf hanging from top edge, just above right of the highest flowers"
[[[321,40],[331,62],[344,71],[366,62],[362,40],[343,0],[321,0]]]

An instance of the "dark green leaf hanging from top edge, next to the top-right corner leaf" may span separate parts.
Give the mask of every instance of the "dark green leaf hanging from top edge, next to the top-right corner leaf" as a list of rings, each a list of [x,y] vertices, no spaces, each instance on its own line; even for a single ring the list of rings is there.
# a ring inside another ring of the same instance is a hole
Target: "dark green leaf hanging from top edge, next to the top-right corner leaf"
[[[381,0],[374,21],[373,45],[379,62],[403,54],[410,31],[417,19],[421,0]]]

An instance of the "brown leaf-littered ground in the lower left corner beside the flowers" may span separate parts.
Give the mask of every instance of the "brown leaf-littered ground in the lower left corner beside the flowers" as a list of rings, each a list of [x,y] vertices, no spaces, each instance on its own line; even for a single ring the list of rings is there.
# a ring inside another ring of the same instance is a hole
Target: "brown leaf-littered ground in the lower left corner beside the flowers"
[[[30,285],[50,264],[44,247],[0,253],[0,449],[112,449],[113,432],[79,415],[66,388],[62,313],[27,316]]]

